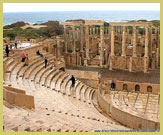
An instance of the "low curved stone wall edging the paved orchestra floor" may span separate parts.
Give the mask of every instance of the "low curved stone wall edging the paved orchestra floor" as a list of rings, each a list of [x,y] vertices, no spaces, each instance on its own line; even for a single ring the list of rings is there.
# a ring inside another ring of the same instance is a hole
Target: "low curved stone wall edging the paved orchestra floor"
[[[97,91],[97,101],[99,106],[110,115],[113,119],[120,122],[121,124],[130,127],[132,129],[143,130],[143,129],[160,129],[160,122],[150,120],[147,117],[137,114],[129,107],[121,107],[115,104],[114,99],[109,99],[109,102],[104,99],[101,94],[101,87]]]

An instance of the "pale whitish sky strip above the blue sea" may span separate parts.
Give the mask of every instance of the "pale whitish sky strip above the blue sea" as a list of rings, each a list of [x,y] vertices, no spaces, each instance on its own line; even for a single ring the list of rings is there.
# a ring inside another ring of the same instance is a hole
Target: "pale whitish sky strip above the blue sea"
[[[155,10],[160,3],[4,3],[3,12]]]

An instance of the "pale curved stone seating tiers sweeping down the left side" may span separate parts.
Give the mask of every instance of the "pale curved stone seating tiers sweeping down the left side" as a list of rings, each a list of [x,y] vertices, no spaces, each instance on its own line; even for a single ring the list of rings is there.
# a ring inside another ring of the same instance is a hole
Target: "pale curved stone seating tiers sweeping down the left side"
[[[29,54],[29,65],[24,66],[19,54],[5,58],[7,72],[4,85],[19,88],[34,96],[35,110],[3,106],[5,132],[94,132],[100,129],[129,129],[94,107],[95,89],[76,80],[71,86],[71,75],[54,65],[55,58],[44,53],[44,59]],[[15,122],[16,121],[16,122]]]

